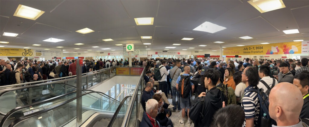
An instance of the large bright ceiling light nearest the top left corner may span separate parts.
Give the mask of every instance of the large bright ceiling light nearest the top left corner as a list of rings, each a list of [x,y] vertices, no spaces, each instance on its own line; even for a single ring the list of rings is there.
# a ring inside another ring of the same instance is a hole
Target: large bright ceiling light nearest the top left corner
[[[13,16],[27,18],[31,20],[36,20],[39,18],[45,11],[41,11],[32,7],[24,6],[19,4]]]

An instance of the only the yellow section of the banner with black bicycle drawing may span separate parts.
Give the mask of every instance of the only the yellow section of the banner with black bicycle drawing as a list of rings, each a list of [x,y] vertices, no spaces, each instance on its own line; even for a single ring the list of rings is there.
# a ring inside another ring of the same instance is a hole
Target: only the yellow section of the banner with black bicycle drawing
[[[31,51],[31,49],[1,47],[0,56],[35,56],[35,54]]]

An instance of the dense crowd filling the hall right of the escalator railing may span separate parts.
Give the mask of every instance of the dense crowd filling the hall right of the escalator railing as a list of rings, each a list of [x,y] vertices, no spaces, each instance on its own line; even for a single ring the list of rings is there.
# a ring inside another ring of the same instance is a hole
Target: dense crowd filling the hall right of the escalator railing
[[[307,58],[144,59],[140,126],[172,127],[179,122],[183,126],[308,127],[308,62]],[[171,94],[172,106],[158,90]],[[176,111],[182,112],[181,117],[172,121],[169,117]]]

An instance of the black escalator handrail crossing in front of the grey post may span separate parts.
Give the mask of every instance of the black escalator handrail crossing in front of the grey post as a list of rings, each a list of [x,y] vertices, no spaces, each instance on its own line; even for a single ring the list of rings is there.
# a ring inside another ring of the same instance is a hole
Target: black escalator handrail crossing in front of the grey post
[[[30,118],[30,117],[33,117],[33,116],[36,116],[36,115],[39,115],[39,114],[42,114],[42,113],[46,113],[46,112],[48,112],[48,111],[50,111],[50,110],[53,110],[53,109],[56,109],[56,108],[58,108],[58,107],[60,107],[60,106],[62,106],[62,105],[68,104],[68,103],[72,102],[73,100],[78,99],[79,97],[82,97],[82,96],[84,96],[84,95],[91,94],[91,93],[102,93],[102,92],[97,92],[97,91],[87,92],[87,93],[84,93],[84,94],[82,94],[82,95],[80,95],[80,96],[76,96],[76,97],[74,97],[74,98],[72,98],[72,99],[70,99],[70,100],[67,100],[67,101],[65,101],[65,102],[62,102],[61,104],[55,105],[55,106],[53,106],[53,107],[50,107],[50,108],[47,108],[47,109],[43,109],[43,110],[41,110],[41,111],[38,111],[38,112],[35,112],[35,113],[31,113],[31,114],[28,114],[28,115],[25,115],[25,116],[22,116],[22,117],[19,117],[18,119],[16,119],[15,121],[13,121],[13,122],[9,125],[9,127],[13,127],[14,125],[18,124],[19,122],[21,122],[21,121],[23,121],[23,120],[25,120],[25,119],[28,119],[28,118]]]

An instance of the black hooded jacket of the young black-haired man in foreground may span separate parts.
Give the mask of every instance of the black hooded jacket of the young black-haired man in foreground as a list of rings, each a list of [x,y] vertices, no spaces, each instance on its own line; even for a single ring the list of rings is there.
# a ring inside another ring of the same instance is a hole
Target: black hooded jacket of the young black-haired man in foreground
[[[205,97],[195,98],[189,112],[194,126],[210,126],[214,113],[222,108],[222,102],[226,100],[224,93],[216,87],[211,88]]]

